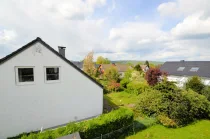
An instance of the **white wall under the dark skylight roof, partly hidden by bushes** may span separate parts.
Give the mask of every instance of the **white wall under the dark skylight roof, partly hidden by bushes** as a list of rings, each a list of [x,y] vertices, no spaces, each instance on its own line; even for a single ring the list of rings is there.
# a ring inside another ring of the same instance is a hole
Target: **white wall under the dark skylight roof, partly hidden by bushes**
[[[188,79],[190,78],[190,77],[183,77],[183,76],[173,76],[173,75],[170,75],[170,76],[168,76],[167,77],[168,78],[168,81],[173,81],[173,82],[176,82],[176,85],[178,86],[178,87],[183,87],[184,86],[184,84],[188,81]],[[202,81],[203,81],[203,83],[205,84],[205,85],[210,85],[210,79],[208,79],[208,78],[201,78],[202,79]]]

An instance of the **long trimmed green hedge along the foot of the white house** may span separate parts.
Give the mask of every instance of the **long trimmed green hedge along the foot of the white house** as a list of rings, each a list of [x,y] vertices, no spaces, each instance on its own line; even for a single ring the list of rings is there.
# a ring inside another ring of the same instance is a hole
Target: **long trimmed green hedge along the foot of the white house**
[[[93,139],[123,127],[128,127],[133,123],[133,116],[131,110],[119,108],[118,110],[102,114],[91,120],[69,123],[65,127],[47,130],[42,133],[23,134],[21,137],[19,135],[16,139],[56,139],[74,132],[79,132],[82,139]],[[127,128],[125,128],[125,130],[126,129]],[[112,134],[112,137],[109,136],[109,138],[117,138],[119,135],[121,134]],[[13,139],[15,139],[15,137],[13,137]]]

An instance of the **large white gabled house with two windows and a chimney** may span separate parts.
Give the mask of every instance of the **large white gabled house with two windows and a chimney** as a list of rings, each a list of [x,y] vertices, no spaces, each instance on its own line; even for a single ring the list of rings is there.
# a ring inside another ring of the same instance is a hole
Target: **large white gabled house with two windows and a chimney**
[[[102,114],[103,87],[42,41],[0,59],[0,139]]]

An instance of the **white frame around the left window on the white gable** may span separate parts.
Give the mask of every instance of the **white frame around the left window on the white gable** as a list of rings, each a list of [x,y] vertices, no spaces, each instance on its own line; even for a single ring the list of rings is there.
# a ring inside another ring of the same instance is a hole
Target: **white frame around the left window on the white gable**
[[[34,75],[34,81],[33,82],[20,82],[19,81],[19,74],[18,69],[22,68],[32,68],[33,69],[33,75]],[[35,84],[36,78],[35,78],[35,66],[15,66],[15,82],[16,85],[33,85]]]

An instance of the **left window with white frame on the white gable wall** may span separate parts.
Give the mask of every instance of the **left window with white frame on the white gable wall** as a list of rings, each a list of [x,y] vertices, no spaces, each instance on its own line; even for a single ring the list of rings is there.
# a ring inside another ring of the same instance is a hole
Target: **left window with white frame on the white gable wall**
[[[16,84],[34,84],[34,67],[15,67]]]

